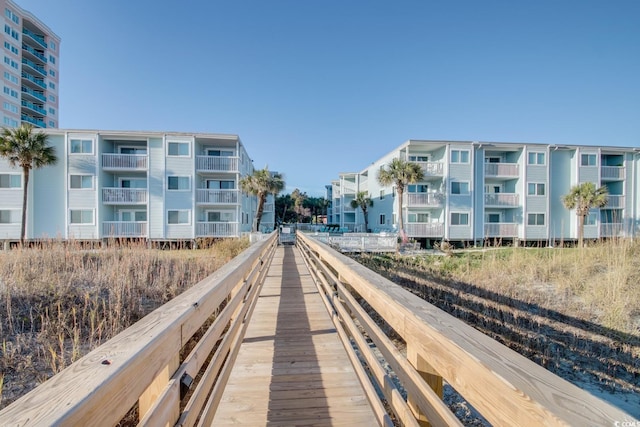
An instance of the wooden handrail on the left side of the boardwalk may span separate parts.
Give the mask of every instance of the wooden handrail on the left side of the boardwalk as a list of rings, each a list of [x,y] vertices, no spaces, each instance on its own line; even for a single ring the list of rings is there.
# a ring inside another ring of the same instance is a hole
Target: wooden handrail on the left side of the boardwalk
[[[244,320],[257,300],[276,245],[277,233],[253,244],[4,408],[2,424],[115,425],[136,402],[142,425],[157,425],[158,419],[162,425],[193,425],[201,414],[206,418],[203,408],[215,410],[221,398],[224,378],[242,341]],[[198,331],[202,334],[194,337]],[[180,360],[192,337],[197,338],[195,346]],[[186,406],[181,410],[181,391],[192,380],[195,392],[186,404],[182,402]],[[200,389],[205,392],[198,393]]]

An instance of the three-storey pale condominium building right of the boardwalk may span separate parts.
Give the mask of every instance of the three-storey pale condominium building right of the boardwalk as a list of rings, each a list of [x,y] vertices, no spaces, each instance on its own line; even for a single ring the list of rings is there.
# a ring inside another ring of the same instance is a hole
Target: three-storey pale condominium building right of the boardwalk
[[[327,187],[329,222],[365,231],[362,211],[350,206],[366,191],[371,231],[397,232],[398,197],[382,186],[378,172],[392,159],[419,164],[420,182],[403,194],[409,237],[428,245],[487,239],[554,244],[575,240],[575,211],[562,203],[571,187],[593,182],[608,190],[604,208],[585,220],[586,238],[634,236],[640,227],[639,148],[579,145],[410,140],[356,173],[340,174]]]

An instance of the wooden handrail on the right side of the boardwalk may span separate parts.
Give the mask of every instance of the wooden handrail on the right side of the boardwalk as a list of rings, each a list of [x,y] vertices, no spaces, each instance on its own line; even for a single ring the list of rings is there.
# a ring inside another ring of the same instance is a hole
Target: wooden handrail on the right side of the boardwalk
[[[407,390],[409,406],[421,420],[425,418],[420,414],[427,414],[432,425],[455,423],[446,418],[420,377],[436,393],[442,392],[444,378],[494,425],[614,425],[630,418],[312,236],[298,232],[297,242],[316,267],[311,269],[314,277],[326,282],[326,297],[340,320],[336,324],[348,327],[356,343],[358,328],[365,331]],[[404,339],[406,356],[389,345],[356,298]],[[352,317],[358,319],[357,327]],[[366,342],[359,346],[367,363],[379,363],[367,357],[370,351]],[[395,415],[403,419],[403,405],[391,392],[389,380],[377,382]]]

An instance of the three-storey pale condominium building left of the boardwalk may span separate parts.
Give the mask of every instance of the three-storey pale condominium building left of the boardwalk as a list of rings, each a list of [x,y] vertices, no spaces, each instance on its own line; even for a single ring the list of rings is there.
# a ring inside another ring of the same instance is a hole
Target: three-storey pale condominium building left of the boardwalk
[[[27,238],[151,241],[236,237],[257,200],[239,181],[254,171],[236,135],[43,129],[57,164],[31,171]],[[22,170],[0,158],[0,240],[20,237]],[[273,198],[261,228],[273,230]]]

